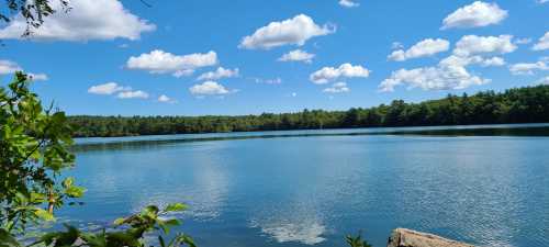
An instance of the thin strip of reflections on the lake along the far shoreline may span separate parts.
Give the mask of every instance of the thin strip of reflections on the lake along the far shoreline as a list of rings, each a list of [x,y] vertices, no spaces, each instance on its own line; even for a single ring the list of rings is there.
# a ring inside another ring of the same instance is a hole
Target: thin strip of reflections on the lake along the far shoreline
[[[109,149],[160,148],[161,145],[175,145],[194,142],[238,141],[255,138],[282,137],[322,137],[357,135],[424,135],[424,136],[549,136],[547,124],[501,124],[501,125],[461,125],[426,127],[379,127],[344,130],[307,130],[278,132],[243,132],[182,134],[134,137],[94,137],[77,138],[75,151],[98,151]]]

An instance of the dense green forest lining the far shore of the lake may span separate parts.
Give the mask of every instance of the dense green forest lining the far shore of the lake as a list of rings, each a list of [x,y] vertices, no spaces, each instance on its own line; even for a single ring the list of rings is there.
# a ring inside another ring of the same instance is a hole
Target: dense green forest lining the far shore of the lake
[[[70,116],[76,136],[130,136],[380,126],[429,126],[549,122],[549,86],[452,96],[421,103],[395,100],[348,111],[240,116]]]

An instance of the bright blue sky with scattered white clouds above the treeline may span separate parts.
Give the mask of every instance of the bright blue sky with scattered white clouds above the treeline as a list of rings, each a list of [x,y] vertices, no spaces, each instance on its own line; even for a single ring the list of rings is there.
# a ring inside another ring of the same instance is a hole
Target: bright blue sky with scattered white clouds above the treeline
[[[24,69],[46,102],[98,115],[347,110],[549,82],[544,0],[149,3],[72,0],[29,40],[14,16],[1,80]]]

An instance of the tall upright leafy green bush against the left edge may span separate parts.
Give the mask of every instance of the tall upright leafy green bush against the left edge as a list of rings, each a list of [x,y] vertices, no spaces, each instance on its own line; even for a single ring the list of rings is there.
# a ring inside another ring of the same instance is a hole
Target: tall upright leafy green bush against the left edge
[[[60,180],[75,159],[65,113],[44,110],[21,72],[8,88],[0,89],[0,227],[22,232],[27,223],[54,221],[53,210],[85,190]]]

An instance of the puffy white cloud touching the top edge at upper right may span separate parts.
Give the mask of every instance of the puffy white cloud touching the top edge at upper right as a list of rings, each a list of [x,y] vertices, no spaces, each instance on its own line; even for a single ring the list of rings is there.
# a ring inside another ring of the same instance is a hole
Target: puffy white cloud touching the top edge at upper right
[[[507,11],[500,9],[495,2],[475,1],[448,15],[441,29],[486,26],[502,22],[507,15]]]

